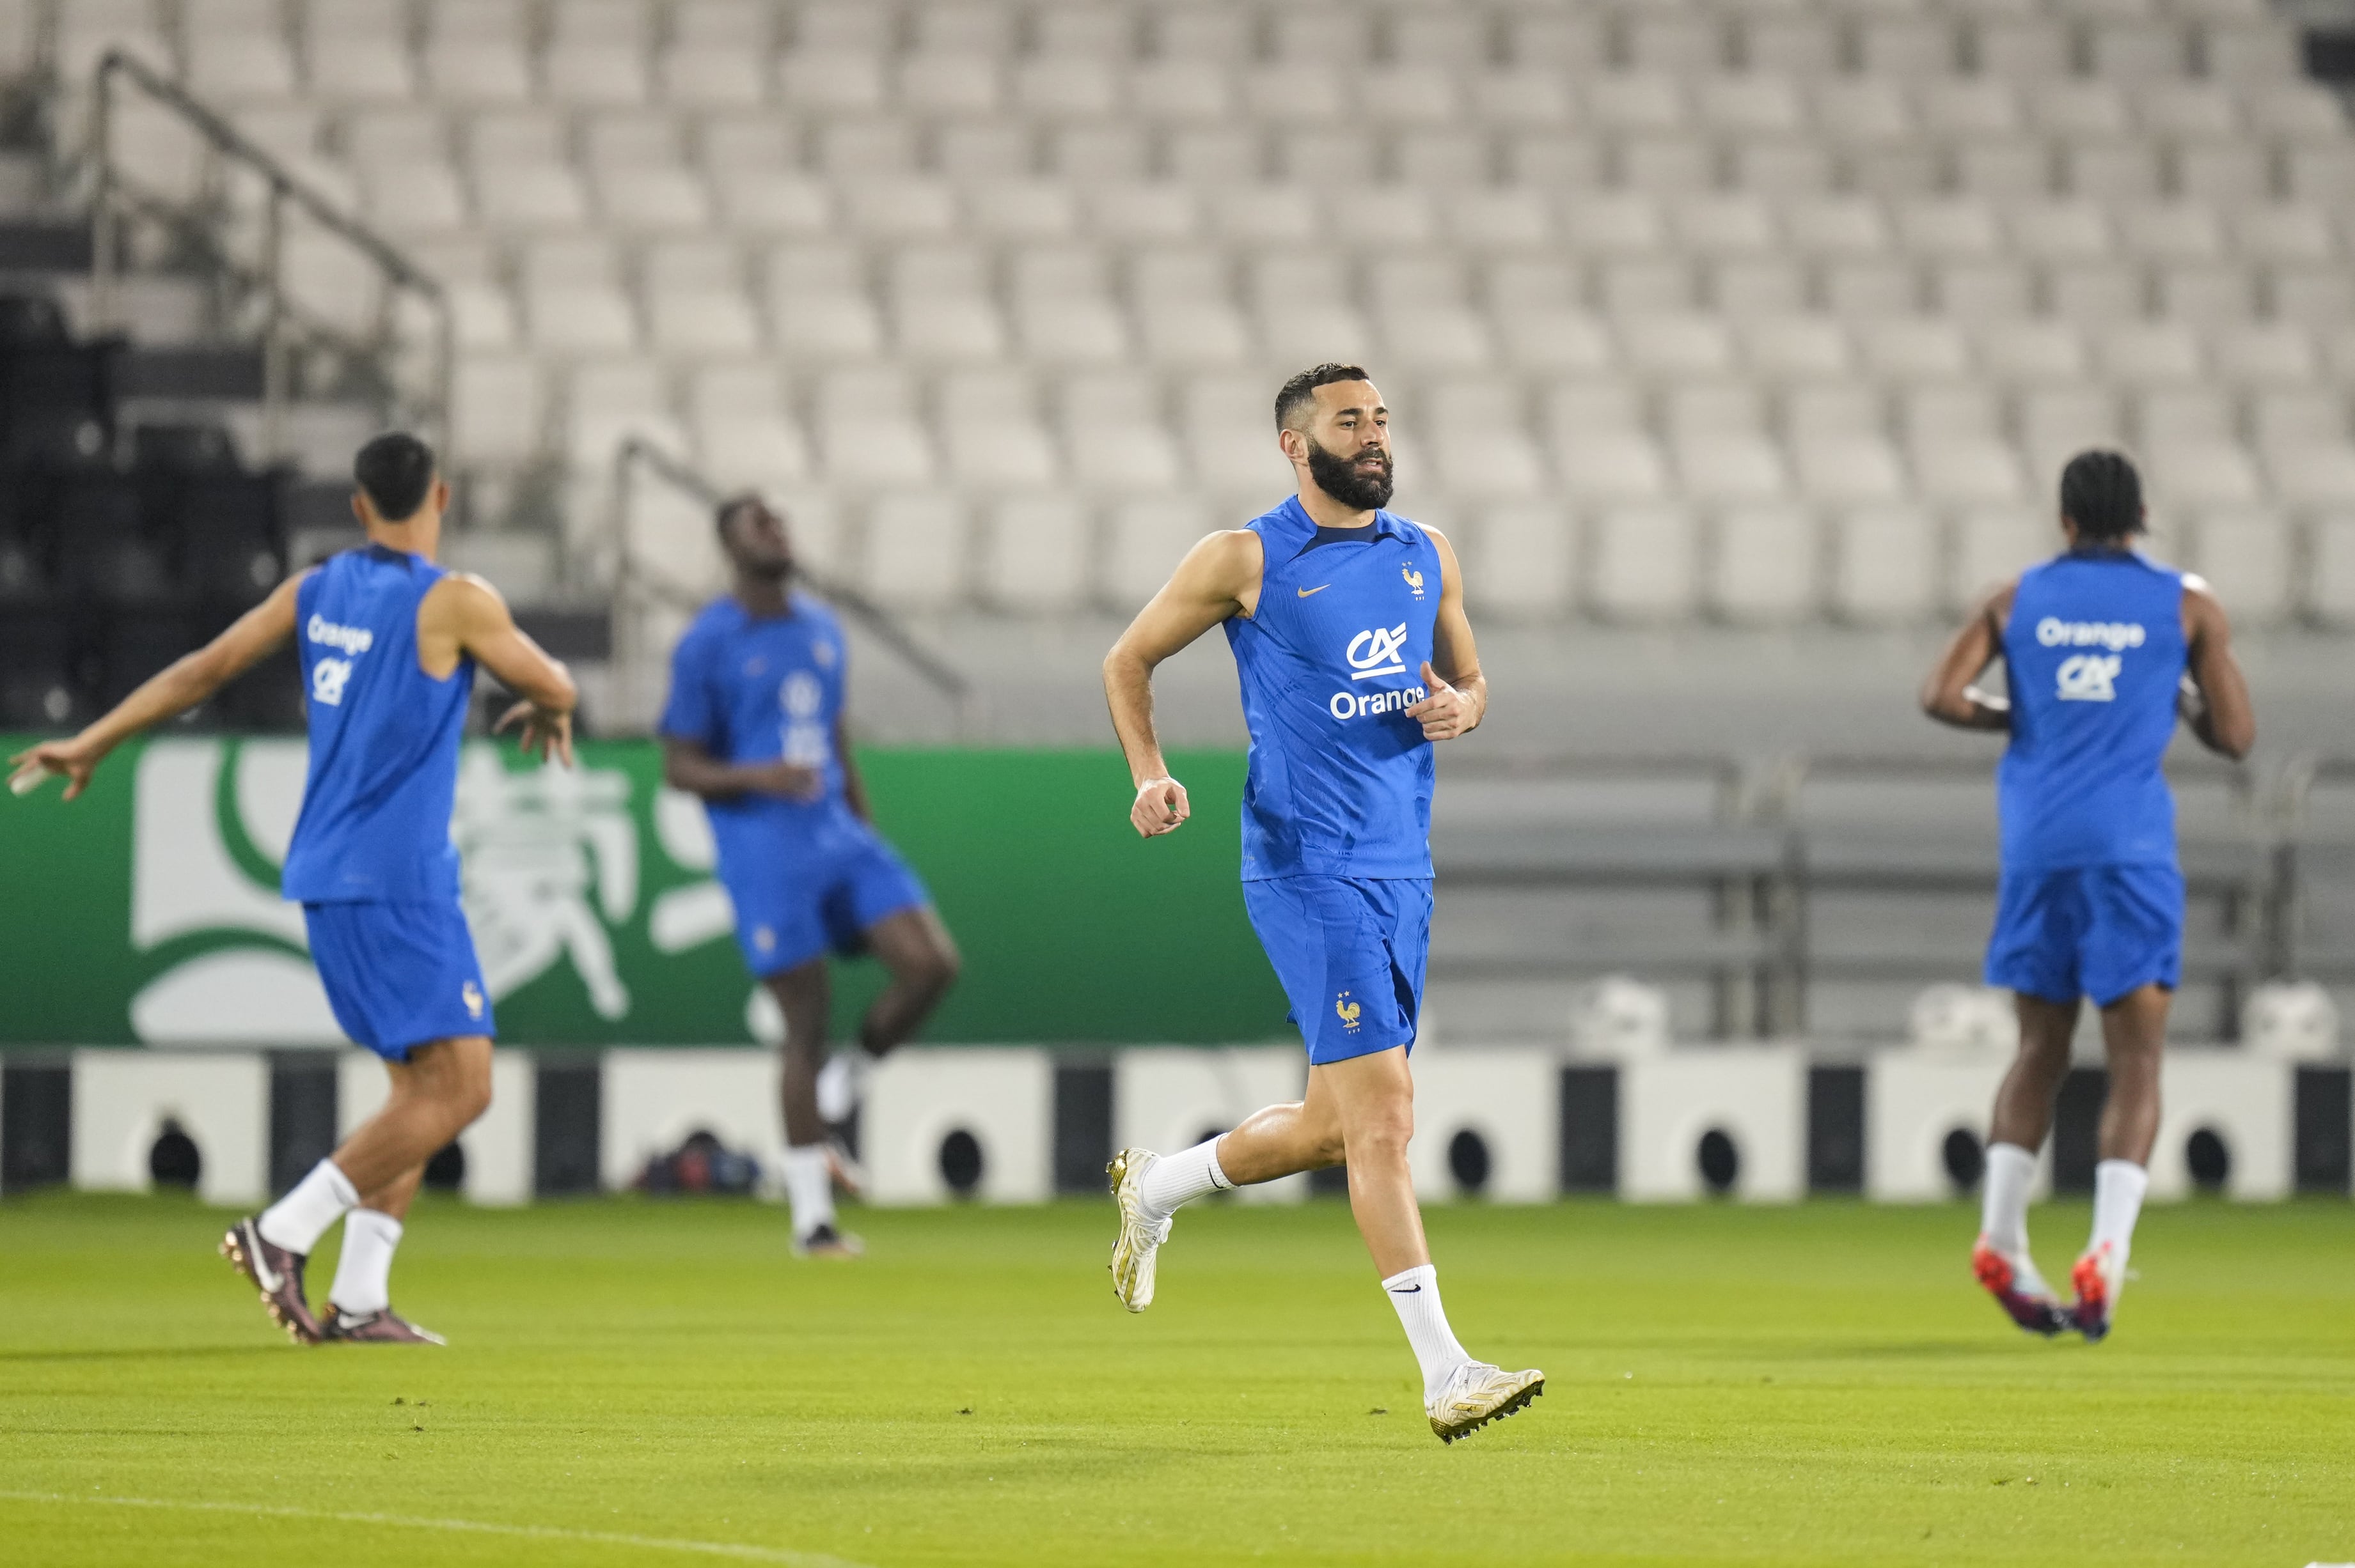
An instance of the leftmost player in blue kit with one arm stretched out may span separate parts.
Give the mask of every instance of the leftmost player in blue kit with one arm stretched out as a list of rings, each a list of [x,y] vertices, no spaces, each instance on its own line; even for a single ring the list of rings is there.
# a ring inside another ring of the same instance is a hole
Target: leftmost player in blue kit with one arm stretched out
[[[66,798],[125,739],[193,709],[294,638],[309,692],[311,772],[280,888],[304,906],[334,1022],[384,1057],[391,1097],[221,1253],[297,1342],[426,1342],[391,1304],[393,1248],[426,1161],[490,1104],[490,998],[459,909],[450,803],[476,664],[520,692],[499,730],[572,760],[572,678],[480,577],[433,565],[450,487],[412,436],[377,436],[353,464],[367,546],[283,582],[261,605],[122,699],[71,742],[14,758],[68,777]],[[344,1220],[327,1311],[304,1262]]]

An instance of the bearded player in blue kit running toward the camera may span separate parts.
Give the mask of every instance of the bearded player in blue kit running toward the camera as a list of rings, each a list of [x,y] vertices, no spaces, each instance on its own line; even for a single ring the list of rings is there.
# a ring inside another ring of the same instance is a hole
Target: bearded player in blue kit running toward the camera
[[[1512,1415],[1545,1375],[1505,1373],[1455,1342],[1406,1170],[1422,965],[1432,923],[1432,742],[1488,709],[1455,551],[1389,501],[1389,412],[1356,365],[1319,365],[1276,393],[1276,440],[1300,492],[1210,534],[1104,659],[1112,725],[1154,838],[1187,819],[1154,737],[1154,666],[1227,629],[1251,727],[1243,904],[1309,1050],[1300,1104],[1170,1156],[1123,1149],[1112,1290],[1154,1300],[1154,1253],[1182,1203],[1347,1161],[1349,1210],[1422,1363],[1441,1441]]]

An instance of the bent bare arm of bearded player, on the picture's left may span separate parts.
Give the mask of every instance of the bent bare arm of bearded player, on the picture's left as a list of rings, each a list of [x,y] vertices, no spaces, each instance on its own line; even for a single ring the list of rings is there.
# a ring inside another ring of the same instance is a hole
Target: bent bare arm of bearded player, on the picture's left
[[[1192,815],[1185,784],[1168,777],[1168,760],[1154,735],[1154,669],[1227,617],[1253,614],[1260,607],[1262,567],[1260,537],[1248,527],[1210,534],[1187,551],[1104,655],[1104,702],[1128,756],[1128,782],[1137,791],[1128,822],[1145,838],[1175,831]]]

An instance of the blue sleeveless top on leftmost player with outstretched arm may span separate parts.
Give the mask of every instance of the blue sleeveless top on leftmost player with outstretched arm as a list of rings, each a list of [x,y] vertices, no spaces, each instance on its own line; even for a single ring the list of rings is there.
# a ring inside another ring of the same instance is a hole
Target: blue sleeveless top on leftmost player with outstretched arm
[[[455,899],[457,742],[473,657],[417,669],[417,605],[443,570],[382,544],[332,556],[294,591],[311,775],[280,890],[304,904]]]

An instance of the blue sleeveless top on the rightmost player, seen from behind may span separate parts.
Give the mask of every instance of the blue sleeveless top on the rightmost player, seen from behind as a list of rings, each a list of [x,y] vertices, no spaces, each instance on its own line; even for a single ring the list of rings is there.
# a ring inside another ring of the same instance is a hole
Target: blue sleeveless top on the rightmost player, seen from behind
[[[2131,551],[2021,572],[2004,624],[2011,744],[1995,772],[2006,871],[2176,862],[2160,758],[2183,659],[2181,572]]]

